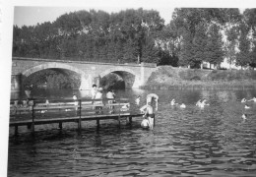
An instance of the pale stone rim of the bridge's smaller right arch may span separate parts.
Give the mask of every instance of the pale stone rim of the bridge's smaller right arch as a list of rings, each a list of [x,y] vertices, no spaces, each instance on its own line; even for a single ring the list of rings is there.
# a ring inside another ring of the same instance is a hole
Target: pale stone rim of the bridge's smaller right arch
[[[140,84],[140,74],[136,73],[134,70],[125,67],[114,67],[109,68],[99,74],[100,78],[106,75],[114,73],[123,78],[126,88],[138,88]]]

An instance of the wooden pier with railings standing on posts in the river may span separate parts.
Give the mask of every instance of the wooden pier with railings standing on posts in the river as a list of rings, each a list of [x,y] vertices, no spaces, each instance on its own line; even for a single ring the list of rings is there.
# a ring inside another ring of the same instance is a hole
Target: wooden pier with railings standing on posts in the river
[[[110,103],[109,103],[110,101]],[[106,119],[117,120],[120,127],[120,120],[125,118],[127,124],[132,123],[133,117],[141,117],[142,113],[130,110],[129,99],[62,99],[49,100],[50,103],[42,103],[33,100],[31,105],[23,107],[22,104],[15,105],[11,101],[10,107],[10,127],[15,127],[15,134],[18,134],[19,126],[28,126],[34,132],[35,125],[42,124],[62,124],[66,122],[76,122],[78,129],[82,129],[82,121],[96,120],[96,128],[99,128],[99,121]]]

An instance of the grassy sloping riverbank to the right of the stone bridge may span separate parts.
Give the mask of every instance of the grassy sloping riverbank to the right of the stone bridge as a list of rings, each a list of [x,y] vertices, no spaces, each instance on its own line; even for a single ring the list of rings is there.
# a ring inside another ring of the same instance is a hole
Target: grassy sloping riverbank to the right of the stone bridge
[[[256,89],[256,71],[160,66],[141,89]]]

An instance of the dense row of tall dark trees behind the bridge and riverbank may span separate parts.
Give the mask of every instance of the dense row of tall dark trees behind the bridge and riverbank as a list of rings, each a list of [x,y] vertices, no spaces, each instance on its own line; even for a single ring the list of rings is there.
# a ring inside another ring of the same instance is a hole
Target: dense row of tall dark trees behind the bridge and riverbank
[[[256,9],[176,8],[77,11],[50,23],[14,26],[13,56],[62,60],[157,63],[198,68],[203,61],[256,66]]]

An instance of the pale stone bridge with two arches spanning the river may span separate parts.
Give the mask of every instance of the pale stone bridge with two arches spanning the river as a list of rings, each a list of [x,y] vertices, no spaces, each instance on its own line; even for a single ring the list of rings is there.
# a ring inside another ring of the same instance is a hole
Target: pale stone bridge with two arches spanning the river
[[[100,78],[114,73],[125,82],[126,88],[139,88],[143,86],[157,68],[156,64],[109,64],[84,61],[67,61],[54,59],[13,57],[12,62],[12,91],[21,89],[23,77],[29,77],[35,72],[56,69],[67,73],[69,77],[79,77],[80,89],[91,89]],[[69,71],[69,72],[67,72]],[[74,73],[70,75],[70,71]]]

